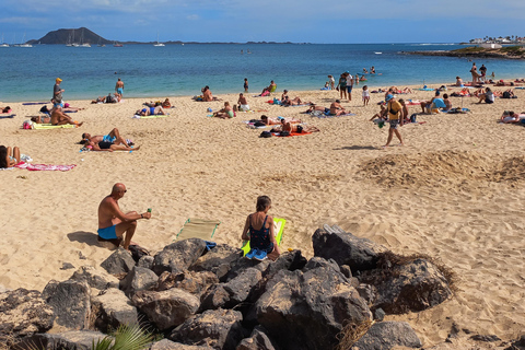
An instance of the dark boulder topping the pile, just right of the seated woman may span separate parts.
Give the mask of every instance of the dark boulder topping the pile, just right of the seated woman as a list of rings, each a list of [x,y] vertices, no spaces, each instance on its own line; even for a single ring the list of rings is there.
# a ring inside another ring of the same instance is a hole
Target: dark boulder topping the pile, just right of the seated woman
[[[370,240],[360,238],[351,233],[328,233],[323,229],[312,236],[314,255],[334,259],[339,266],[348,265],[352,273],[375,269],[378,254],[387,249]]]

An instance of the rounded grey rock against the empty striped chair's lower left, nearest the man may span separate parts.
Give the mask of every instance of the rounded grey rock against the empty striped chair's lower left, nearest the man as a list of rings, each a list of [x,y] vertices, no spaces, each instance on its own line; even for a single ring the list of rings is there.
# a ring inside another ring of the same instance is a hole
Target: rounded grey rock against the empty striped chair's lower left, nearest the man
[[[153,258],[153,271],[161,275],[164,271],[183,272],[202,255],[206,242],[200,238],[189,238],[166,245]]]

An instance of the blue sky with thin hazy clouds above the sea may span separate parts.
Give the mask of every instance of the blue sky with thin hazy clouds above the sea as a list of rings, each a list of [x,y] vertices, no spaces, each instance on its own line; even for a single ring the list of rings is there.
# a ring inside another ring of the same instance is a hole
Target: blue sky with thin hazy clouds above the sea
[[[2,0],[0,35],[84,26],[119,42],[459,43],[525,36],[524,14],[524,0]]]

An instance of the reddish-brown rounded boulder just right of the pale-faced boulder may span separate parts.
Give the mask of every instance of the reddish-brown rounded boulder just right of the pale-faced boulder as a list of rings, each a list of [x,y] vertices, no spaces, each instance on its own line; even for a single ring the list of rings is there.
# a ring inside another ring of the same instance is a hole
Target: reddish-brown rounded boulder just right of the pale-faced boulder
[[[199,308],[200,301],[197,296],[180,289],[167,291],[139,291],[132,298],[132,303],[160,330],[180,325]]]

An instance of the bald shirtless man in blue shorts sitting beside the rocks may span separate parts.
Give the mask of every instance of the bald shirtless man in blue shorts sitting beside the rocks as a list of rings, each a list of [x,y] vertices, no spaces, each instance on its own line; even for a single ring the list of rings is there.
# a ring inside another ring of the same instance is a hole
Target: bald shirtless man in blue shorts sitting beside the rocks
[[[137,230],[137,220],[150,219],[151,212],[139,214],[137,211],[124,213],[118,207],[118,200],[124,197],[128,190],[124,184],[117,183],[113,186],[112,194],[106,196],[98,206],[98,236],[103,240],[122,241],[122,247],[129,250],[131,237]]]

